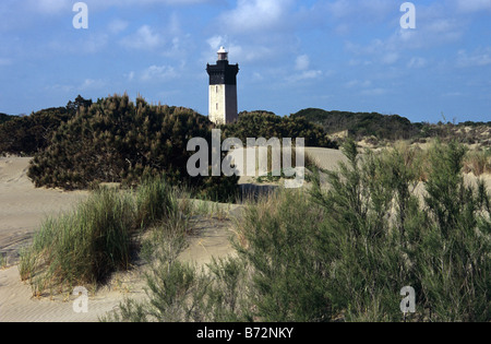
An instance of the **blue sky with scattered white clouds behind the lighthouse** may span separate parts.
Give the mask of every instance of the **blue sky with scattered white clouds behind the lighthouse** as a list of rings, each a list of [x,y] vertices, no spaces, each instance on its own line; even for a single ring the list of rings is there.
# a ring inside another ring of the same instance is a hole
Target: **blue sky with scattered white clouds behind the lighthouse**
[[[0,112],[127,92],[207,115],[206,63],[239,63],[239,110],[307,107],[491,121],[491,0],[0,2]]]

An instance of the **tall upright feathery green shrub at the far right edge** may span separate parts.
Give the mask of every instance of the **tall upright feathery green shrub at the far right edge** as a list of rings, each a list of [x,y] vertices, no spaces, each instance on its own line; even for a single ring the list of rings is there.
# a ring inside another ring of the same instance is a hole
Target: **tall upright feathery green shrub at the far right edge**
[[[491,319],[490,201],[483,181],[466,186],[465,154],[455,142],[433,147],[426,182],[431,221],[417,242],[415,264],[424,305],[441,321]]]

